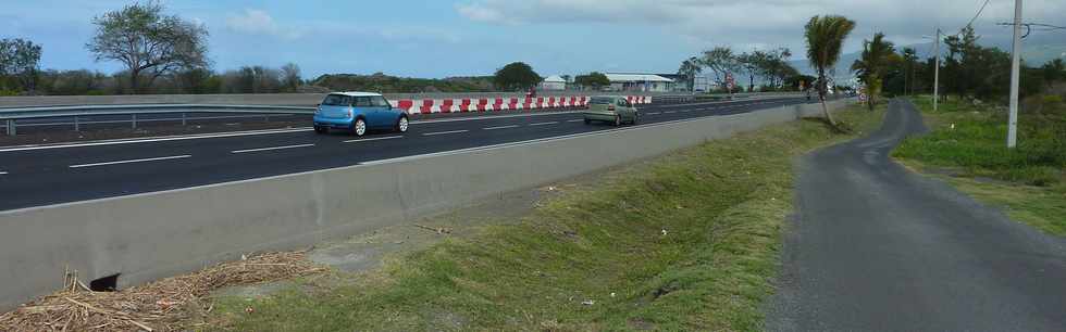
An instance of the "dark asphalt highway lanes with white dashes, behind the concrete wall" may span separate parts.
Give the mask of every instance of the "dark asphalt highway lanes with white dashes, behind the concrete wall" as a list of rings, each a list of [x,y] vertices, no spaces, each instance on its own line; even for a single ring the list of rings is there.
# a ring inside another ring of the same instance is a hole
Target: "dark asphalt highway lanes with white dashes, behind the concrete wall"
[[[739,114],[802,98],[644,105],[641,124]],[[310,125],[310,124],[309,124]],[[0,210],[329,169],[374,161],[611,130],[580,113],[412,122],[362,138],[310,128],[0,148]],[[500,169],[499,171],[507,171]]]

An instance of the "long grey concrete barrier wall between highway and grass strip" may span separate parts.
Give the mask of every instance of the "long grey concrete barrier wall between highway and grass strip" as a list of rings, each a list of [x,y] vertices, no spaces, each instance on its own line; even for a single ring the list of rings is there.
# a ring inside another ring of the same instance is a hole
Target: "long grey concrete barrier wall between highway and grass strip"
[[[833,102],[833,107],[844,101]],[[818,105],[623,128],[159,193],[0,213],[0,309],[63,283],[125,288],[243,253],[294,250],[501,193],[820,113]],[[71,189],[76,190],[76,189]]]

